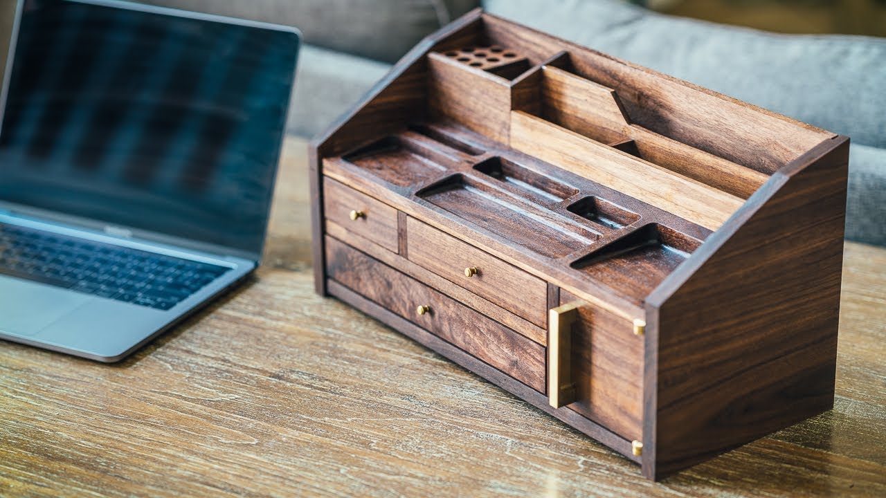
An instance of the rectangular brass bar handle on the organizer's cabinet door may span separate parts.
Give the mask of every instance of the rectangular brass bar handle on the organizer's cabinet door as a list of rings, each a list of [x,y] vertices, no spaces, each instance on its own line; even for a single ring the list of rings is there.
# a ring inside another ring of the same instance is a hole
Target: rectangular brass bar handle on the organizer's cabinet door
[[[575,401],[572,381],[572,324],[579,320],[579,302],[548,312],[548,403],[556,409]]]

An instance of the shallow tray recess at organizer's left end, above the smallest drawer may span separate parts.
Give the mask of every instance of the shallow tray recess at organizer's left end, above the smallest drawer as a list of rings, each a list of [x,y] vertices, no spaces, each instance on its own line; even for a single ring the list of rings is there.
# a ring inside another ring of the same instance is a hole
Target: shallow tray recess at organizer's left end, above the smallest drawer
[[[447,170],[439,154],[399,136],[386,136],[342,156],[342,159],[401,187],[427,181]]]

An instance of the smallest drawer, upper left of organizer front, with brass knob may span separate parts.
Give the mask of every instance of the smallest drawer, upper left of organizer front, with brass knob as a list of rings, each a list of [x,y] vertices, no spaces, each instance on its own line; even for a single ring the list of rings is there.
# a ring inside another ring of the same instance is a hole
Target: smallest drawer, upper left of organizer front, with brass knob
[[[323,178],[326,220],[396,253],[397,210],[329,177]]]

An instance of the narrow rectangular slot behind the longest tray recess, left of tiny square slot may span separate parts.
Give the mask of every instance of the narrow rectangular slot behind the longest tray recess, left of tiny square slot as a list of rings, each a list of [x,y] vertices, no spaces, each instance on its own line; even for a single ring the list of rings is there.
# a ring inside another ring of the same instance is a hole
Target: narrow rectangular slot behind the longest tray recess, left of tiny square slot
[[[578,189],[565,183],[557,182],[549,176],[540,175],[511,160],[497,156],[479,163],[474,169],[508,184],[521,196],[542,205],[556,204],[579,193]]]

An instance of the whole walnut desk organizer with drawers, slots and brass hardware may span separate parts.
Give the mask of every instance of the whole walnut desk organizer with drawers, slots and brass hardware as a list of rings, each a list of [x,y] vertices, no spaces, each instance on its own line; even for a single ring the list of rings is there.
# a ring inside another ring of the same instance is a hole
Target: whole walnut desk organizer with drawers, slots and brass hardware
[[[848,142],[471,12],[312,144],[317,292],[661,479],[832,408]]]

